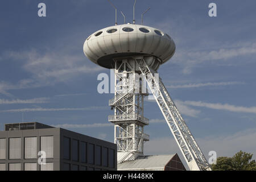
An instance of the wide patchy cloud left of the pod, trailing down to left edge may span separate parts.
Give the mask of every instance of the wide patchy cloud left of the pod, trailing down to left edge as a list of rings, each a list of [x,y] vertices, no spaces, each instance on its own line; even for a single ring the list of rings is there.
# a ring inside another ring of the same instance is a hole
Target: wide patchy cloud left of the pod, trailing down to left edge
[[[57,82],[71,81],[73,78],[88,73],[104,70],[98,65],[91,65],[84,55],[64,51],[40,53],[30,50],[23,52],[9,51],[3,53],[6,60],[19,60],[22,69],[31,73],[29,79],[20,80],[16,84],[0,82],[0,93],[12,96],[8,90],[49,86]]]

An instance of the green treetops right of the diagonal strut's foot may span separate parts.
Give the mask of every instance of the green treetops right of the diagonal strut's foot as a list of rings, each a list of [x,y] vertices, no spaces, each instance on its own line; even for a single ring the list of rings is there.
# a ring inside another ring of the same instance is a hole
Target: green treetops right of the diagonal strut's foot
[[[232,158],[219,157],[212,164],[213,171],[256,171],[256,162],[251,160],[253,154],[239,151]]]

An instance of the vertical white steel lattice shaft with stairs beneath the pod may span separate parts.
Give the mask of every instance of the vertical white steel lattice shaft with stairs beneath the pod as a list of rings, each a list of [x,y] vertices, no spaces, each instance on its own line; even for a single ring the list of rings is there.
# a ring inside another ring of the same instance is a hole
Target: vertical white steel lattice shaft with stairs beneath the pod
[[[109,122],[114,123],[114,143],[118,147],[118,163],[134,160],[143,155],[144,142],[149,135],[143,128],[148,125],[148,119],[143,116],[143,102],[146,94],[141,93],[142,82],[135,84],[135,60],[131,65],[127,60],[115,61],[115,97],[109,100],[109,106],[114,109],[114,115],[109,116]]]

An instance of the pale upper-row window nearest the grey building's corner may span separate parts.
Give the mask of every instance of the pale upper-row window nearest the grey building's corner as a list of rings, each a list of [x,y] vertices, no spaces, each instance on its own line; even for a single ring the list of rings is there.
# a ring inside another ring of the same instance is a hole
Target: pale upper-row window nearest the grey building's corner
[[[41,137],[40,150],[46,152],[46,158],[53,158],[53,136]]]

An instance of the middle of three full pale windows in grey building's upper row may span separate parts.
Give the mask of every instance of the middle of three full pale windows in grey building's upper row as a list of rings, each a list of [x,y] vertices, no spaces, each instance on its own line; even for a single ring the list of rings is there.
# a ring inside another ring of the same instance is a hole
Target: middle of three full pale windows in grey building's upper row
[[[25,138],[25,159],[36,159],[36,137]]]

